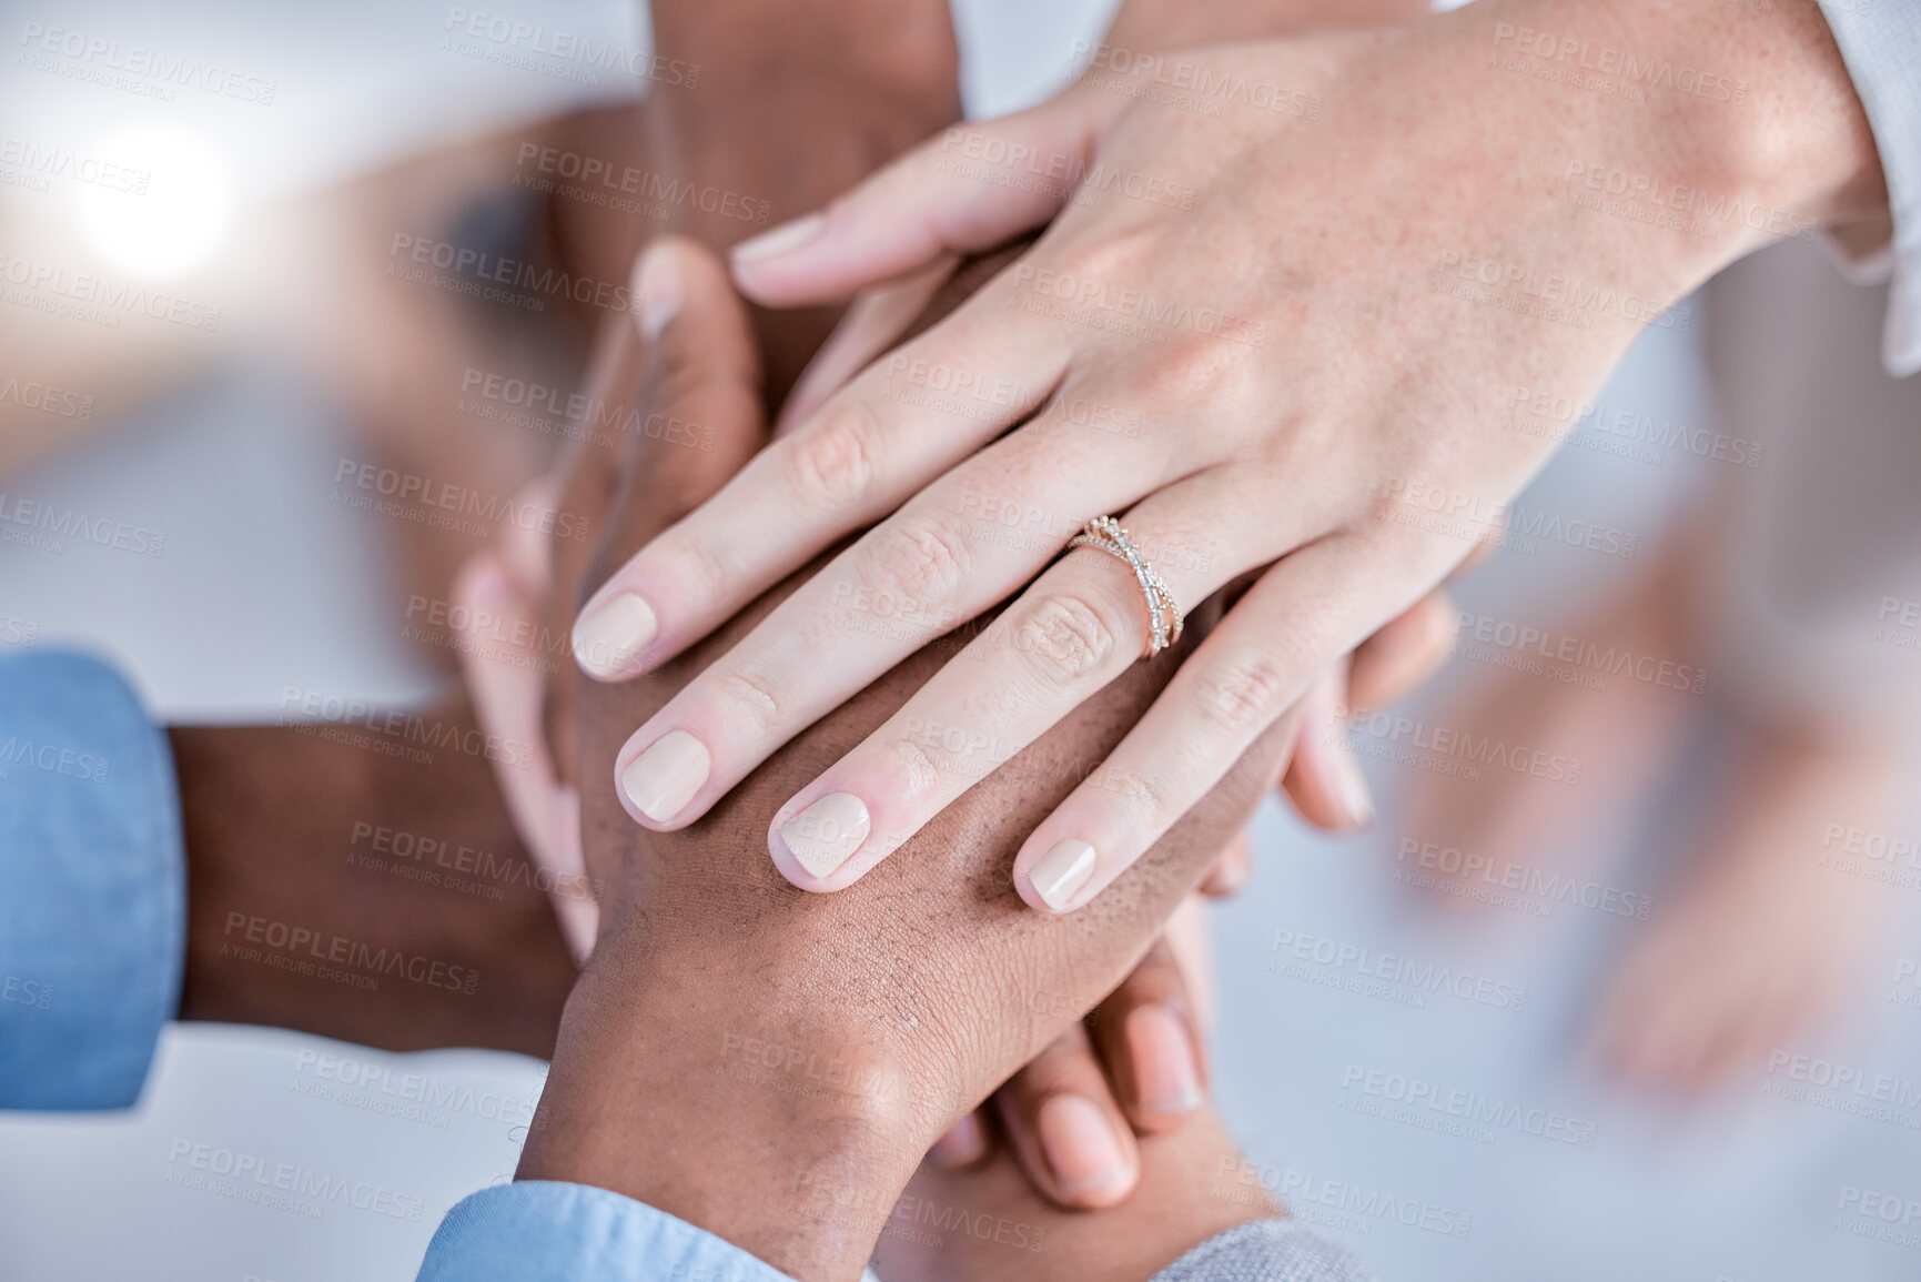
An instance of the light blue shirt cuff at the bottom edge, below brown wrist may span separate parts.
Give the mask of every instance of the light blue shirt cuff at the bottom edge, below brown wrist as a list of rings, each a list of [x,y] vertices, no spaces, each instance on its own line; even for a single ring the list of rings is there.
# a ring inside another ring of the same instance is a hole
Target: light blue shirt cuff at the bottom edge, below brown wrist
[[[772,1265],[644,1201],[521,1180],[455,1203],[419,1282],[790,1282]]]

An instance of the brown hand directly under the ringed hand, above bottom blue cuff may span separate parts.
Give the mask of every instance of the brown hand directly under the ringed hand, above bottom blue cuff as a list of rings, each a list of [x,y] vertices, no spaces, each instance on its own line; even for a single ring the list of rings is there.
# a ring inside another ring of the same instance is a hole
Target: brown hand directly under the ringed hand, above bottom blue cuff
[[[718,263],[682,250],[670,252],[686,302],[657,344],[651,386],[663,400],[653,404],[682,404],[693,417],[686,398],[697,384],[709,398],[699,413],[734,442],[724,448],[738,448],[759,432],[757,402],[730,394],[726,377],[686,371],[697,367],[693,354],[726,346],[717,334],[743,331],[711,306],[707,284],[724,284]],[[597,573],[697,498],[661,467],[674,463],[663,450],[626,471]],[[678,465],[707,467],[697,452],[682,454]],[[1141,961],[1277,771],[1291,727],[1264,736],[1091,913],[1028,913],[1009,894],[1009,861],[1153,700],[1156,669],[1135,669],[1003,763],[859,888],[807,896],[757,857],[768,817],[809,771],[905,702],[951,644],[811,727],[699,825],[636,828],[609,784],[634,719],[778,600],[755,602],[644,680],[582,692],[586,859],[607,896],[519,1174],[640,1197],[799,1278],[853,1278],[934,1140]],[[1187,1230],[1193,1245],[1218,1226],[1195,1219]]]

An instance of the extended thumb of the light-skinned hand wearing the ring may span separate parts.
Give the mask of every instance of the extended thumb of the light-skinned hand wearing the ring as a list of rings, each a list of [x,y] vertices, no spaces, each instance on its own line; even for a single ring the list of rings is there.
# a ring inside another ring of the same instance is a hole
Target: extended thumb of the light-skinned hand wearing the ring
[[[991,250],[1074,198],[1124,102],[1070,88],[1016,115],[953,125],[824,211],[734,246],[734,281],[759,304],[793,308],[838,302],[943,254]]]

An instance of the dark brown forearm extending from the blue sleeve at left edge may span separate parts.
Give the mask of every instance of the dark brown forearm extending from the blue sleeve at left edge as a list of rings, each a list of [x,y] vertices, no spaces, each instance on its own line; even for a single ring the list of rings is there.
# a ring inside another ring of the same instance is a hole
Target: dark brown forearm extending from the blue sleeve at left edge
[[[425,717],[471,730],[457,705]],[[574,963],[482,755],[432,748],[428,765],[282,727],[171,740],[181,1019],[553,1053]]]

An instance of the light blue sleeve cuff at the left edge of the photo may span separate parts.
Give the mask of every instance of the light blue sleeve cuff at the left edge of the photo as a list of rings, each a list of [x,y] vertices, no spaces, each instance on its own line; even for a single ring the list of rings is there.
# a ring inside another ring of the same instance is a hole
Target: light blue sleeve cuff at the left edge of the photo
[[[123,1109],[181,1005],[167,736],[109,667],[0,659],[0,1109]]]

